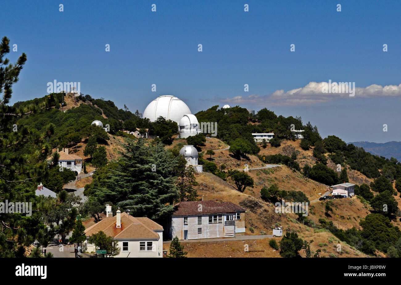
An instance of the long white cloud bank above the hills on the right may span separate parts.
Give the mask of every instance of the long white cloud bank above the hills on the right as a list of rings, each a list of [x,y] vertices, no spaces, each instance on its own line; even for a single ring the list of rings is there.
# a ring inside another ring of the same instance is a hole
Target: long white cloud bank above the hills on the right
[[[334,82],[333,82],[334,83]],[[323,86],[328,82],[309,82],[302,88],[296,88],[285,92],[276,90],[268,95],[253,94],[250,96],[235,96],[233,98],[219,98],[220,102],[232,105],[253,106],[285,106],[285,105],[310,105],[338,100],[340,98],[389,98],[401,96],[400,85],[381,86],[372,84],[366,88],[354,88],[355,94],[350,97],[349,93],[323,93]]]

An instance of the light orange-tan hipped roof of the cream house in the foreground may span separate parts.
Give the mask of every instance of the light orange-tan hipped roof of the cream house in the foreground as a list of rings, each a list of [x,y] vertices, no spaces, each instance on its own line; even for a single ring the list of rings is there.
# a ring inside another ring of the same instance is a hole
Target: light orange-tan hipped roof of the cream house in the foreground
[[[158,233],[154,230],[163,230],[163,227],[146,217],[132,217],[127,213],[121,213],[121,228],[117,228],[117,215],[106,217],[100,222],[85,230],[90,237],[99,231],[115,239],[159,239]]]

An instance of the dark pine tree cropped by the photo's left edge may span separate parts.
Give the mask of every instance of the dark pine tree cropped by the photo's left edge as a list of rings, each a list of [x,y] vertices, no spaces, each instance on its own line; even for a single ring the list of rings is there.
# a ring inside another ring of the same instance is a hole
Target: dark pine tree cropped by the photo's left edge
[[[0,43],[0,201],[32,202],[32,215],[0,215],[0,257],[23,257],[35,240],[47,243],[52,238],[37,211],[34,185],[47,172],[45,160],[51,154],[51,147],[46,141],[53,134],[54,125],[50,124],[41,133],[18,124],[22,116],[45,108],[45,102],[18,109],[8,106],[12,84],[18,81],[26,62],[25,53],[15,64],[4,58],[10,52],[9,42],[4,37]]]

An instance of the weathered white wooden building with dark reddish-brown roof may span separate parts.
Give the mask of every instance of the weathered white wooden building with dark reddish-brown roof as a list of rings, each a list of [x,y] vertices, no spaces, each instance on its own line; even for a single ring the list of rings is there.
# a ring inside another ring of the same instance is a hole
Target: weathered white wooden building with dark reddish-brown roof
[[[231,202],[185,201],[175,205],[170,237],[210,239],[245,234],[245,209]]]

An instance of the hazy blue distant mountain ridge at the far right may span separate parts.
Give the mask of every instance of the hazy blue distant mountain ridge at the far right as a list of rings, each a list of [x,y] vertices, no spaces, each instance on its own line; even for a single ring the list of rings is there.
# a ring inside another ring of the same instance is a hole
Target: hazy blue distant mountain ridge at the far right
[[[351,143],[356,147],[363,147],[365,151],[373,155],[379,155],[388,159],[394,157],[398,161],[401,161],[401,142],[347,142],[347,145]]]

